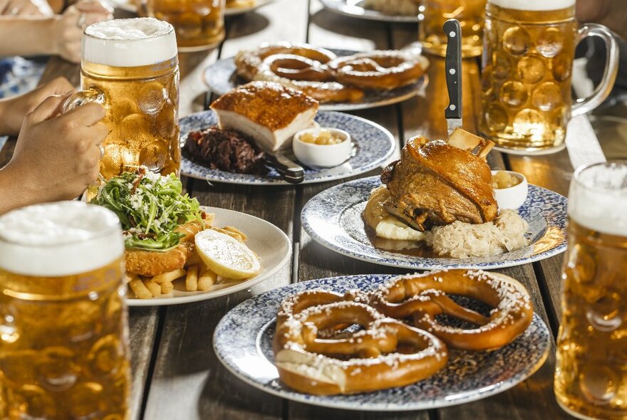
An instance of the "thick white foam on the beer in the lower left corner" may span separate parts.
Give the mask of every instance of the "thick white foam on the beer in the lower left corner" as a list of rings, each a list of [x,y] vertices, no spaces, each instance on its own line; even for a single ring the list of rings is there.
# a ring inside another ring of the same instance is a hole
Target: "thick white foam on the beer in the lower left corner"
[[[0,216],[0,268],[55,277],[86,273],[124,253],[118,216],[81,201],[28,206]]]

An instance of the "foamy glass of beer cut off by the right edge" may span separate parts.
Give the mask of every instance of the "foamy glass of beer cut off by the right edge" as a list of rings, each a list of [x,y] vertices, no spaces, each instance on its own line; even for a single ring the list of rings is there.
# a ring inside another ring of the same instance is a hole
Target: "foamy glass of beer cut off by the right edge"
[[[627,419],[627,163],[579,169],[569,198],[555,394],[581,419]]]

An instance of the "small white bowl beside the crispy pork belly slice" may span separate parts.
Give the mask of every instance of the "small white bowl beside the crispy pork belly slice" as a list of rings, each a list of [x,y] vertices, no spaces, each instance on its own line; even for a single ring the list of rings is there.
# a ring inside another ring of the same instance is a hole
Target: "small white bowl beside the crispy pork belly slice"
[[[301,136],[307,132],[314,135],[321,130],[328,130],[337,137],[343,137],[343,141],[336,145],[316,145],[314,143],[306,143],[301,140]],[[307,128],[301,130],[294,135],[292,149],[299,162],[306,164],[308,167],[331,168],[346,162],[353,154],[353,142],[351,135],[344,130],[338,128]]]

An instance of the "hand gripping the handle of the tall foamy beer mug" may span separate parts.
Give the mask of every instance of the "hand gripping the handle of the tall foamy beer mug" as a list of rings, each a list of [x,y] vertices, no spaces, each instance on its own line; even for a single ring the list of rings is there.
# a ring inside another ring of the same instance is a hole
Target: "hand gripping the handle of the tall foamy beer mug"
[[[24,187],[28,203],[73,199],[98,177],[105,108],[88,103],[60,115],[68,95],[46,99],[24,118],[11,162],[1,172]],[[19,203],[21,205],[26,205]]]

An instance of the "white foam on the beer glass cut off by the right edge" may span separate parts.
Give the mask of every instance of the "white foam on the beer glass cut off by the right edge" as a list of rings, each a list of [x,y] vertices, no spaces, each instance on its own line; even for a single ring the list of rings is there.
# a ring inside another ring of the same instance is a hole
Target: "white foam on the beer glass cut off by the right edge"
[[[576,172],[569,216],[581,226],[627,237],[627,164],[598,164]]]

